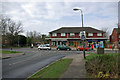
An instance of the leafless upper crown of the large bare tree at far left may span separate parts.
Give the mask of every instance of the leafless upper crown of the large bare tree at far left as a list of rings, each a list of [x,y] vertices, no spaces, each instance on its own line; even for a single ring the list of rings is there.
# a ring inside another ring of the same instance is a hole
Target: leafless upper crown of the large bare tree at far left
[[[8,17],[0,16],[0,28],[2,29],[2,35],[10,33],[11,35],[18,35],[23,32],[22,23],[19,21],[15,23]]]

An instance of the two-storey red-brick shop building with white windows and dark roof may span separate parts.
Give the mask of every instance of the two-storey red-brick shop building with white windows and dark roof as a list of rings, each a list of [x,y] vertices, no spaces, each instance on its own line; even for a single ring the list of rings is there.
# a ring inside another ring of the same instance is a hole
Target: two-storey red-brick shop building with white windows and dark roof
[[[105,37],[105,32],[92,28],[92,27],[61,27],[57,30],[53,30],[49,32],[50,38],[46,38],[49,40],[51,46],[57,45],[67,45],[70,47],[82,46],[83,41],[81,40],[80,32],[84,31],[86,40],[85,46],[89,46],[90,44],[94,45],[96,48],[96,44],[100,41],[104,41],[107,39]]]

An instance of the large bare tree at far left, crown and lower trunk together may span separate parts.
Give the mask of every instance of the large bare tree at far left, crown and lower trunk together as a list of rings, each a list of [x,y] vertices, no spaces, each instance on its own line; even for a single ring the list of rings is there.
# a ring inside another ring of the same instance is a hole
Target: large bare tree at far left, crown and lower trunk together
[[[23,32],[22,23],[14,22],[12,19],[7,16],[0,16],[0,28],[2,29],[2,36],[10,42],[11,46],[15,45],[16,36]],[[3,41],[4,42],[4,41]]]

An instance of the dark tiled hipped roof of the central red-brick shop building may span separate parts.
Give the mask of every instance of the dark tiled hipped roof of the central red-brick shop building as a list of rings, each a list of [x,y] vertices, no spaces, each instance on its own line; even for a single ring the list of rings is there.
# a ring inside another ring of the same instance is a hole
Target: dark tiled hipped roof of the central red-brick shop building
[[[105,33],[102,30],[98,30],[92,27],[61,27],[49,33],[80,33],[80,31],[86,31],[87,33]]]

